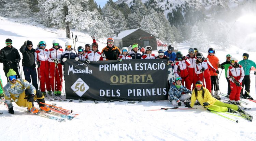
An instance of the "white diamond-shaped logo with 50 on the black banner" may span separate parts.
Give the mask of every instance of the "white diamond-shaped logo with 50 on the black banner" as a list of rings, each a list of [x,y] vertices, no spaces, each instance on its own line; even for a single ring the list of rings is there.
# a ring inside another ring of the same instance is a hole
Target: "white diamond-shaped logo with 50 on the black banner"
[[[78,96],[82,97],[90,87],[81,78],[78,78],[70,88]]]

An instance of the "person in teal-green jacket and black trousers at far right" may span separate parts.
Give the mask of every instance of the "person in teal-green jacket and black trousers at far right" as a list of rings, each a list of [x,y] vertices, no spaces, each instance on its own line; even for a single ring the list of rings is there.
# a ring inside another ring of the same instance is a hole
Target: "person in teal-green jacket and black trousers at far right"
[[[250,93],[250,85],[251,85],[251,79],[250,79],[250,71],[251,71],[251,67],[254,66],[256,67],[255,62],[253,62],[252,60],[248,60],[249,58],[249,54],[248,53],[244,53],[243,54],[243,60],[239,61],[238,63],[240,65],[242,65],[243,69],[244,69],[244,79],[242,81],[242,87],[245,85],[245,90]],[[243,89],[241,90],[240,93],[241,97],[243,98],[248,98],[248,99],[253,99],[250,95],[248,95],[246,92],[243,95]]]

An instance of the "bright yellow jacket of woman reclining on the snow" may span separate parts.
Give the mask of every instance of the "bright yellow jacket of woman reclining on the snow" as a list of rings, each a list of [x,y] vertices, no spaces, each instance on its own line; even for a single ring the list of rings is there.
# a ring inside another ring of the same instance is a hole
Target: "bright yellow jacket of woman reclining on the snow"
[[[197,91],[197,97],[196,97],[196,94],[195,94],[195,89],[193,90],[193,92],[191,94],[191,103],[190,103],[191,107],[194,106],[196,100],[198,100],[201,105],[203,105],[204,102],[209,103],[209,105],[205,106],[205,107],[210,107],[217,101],[217,99],[212,97],[211,93],[209,92],[209,90],[207,88],[203,87],[203,89],[198,90]],[[204,90],[204,96],[202,98],[203,90]]]

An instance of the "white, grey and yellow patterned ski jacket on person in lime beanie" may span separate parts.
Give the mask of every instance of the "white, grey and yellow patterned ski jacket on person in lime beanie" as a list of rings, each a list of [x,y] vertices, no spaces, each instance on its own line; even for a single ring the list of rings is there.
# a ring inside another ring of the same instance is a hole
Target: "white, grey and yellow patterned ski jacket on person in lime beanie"
[[[4,94],[8,98],[16,97],[18,98],[21,93],[26,89],[31,90],[31,94],[35,95],[36,89],[25,79],[17,79],[16,83],[11,83],[10,81],[3,87]]]

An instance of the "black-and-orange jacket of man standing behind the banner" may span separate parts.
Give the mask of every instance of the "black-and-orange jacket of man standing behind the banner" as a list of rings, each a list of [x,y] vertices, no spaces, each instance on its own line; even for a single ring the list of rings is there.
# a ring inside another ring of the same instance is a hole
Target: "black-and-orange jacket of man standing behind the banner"
[[[117,60],[118,56],[121,54],[120,49],[113,45],[113,47],[106,46],[102,49],[101,53],[104,53],[106,60]]]

